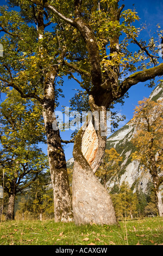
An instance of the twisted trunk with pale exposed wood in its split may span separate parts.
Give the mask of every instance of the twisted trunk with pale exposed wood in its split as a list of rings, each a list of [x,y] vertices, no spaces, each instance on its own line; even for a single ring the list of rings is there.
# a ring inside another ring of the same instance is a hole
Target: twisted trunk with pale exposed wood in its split
[[[91,96],[90,106],[92,111],[103,112],[106,129],[105,108],[97,107]],[[94,174],[105,152],[106,136],[101,136],[101,132],[100,124],[96,131],[95,125],[87,120],[74,142],[72,204],[77,225],[117,223],[111,197]]]

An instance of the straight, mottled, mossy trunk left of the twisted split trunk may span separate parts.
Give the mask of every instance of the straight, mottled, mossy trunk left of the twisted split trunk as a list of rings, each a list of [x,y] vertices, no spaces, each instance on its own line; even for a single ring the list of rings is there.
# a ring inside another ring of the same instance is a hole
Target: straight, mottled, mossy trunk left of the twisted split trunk
[[[72,220],[72,200],[65,154],[61,146],[59,130],[53,129],[54,122],[54,78],[57,75],[52,67],[46,74],[45,93],[43,103],[43,118],[47,135],[49,168],[54,194],[55,222],[68,222]]]

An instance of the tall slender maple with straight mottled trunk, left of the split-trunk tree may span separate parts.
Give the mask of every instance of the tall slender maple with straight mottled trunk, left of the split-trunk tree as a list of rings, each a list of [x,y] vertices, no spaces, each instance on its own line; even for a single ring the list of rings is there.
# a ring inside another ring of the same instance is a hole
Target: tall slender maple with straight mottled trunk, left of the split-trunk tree
[[[55,85],[62,54],[58,47],[52,47],[57,43],[57,34],[45,31],[51,21],[43,5],[35,6],[30,1],[9,2],[21,10],[9,12],[1,8],[1,32],[5,33],[1,39],[4,46],[1,86],[14,88],[24,99],[36,99],[41,106],[54,191],[55,221],[70,221],[72,203],[65,154],[59,130],[53,129],[59,93]]]

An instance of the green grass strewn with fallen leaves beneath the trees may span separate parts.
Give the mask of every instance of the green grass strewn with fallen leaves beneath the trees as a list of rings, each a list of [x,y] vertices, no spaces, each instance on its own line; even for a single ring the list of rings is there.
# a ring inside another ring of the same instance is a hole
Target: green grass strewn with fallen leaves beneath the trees
[[[163,218],[121,221],[119,225],[81,225],[48,221],[0,223],[0,245],[160,245]]]

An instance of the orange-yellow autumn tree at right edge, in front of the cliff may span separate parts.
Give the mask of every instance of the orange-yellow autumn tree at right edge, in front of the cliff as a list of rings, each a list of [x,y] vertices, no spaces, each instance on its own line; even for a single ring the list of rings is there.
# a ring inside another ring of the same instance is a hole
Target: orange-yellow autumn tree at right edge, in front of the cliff
[[[155,192],[156,206],[162,216],[162,199],[159,186],[163,182],[163,106],[162,101],[144,99],[138,102],[132,122],[136,124],[136,133],[131,142],[136,147],[133,160],[139,160],[142,167],[149,170]]]

